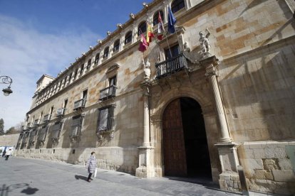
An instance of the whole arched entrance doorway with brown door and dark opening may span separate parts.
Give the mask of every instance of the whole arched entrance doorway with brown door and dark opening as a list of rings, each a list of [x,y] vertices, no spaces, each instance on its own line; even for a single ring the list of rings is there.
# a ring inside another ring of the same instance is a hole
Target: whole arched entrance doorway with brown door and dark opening
[[[189,97],[173,100],[162,116],[165,175],[212,178],[200,104]]]

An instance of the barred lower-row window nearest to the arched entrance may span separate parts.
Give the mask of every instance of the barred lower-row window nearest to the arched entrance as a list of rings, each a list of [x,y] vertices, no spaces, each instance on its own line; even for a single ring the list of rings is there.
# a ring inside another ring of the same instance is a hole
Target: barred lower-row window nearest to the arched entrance
[[[111,131],[113,129],[113,116],[115,106],[111,105],[103,107],[99,110],[98,114],[98,132],[100,131]]]

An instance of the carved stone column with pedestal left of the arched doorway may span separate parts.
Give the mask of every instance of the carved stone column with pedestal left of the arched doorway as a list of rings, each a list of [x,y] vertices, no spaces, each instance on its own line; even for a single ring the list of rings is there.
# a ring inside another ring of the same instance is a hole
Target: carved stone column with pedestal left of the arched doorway
[[[153,165],[154,148],[150,145],[150,83],[143,82],[143,145],[139,149],[139,167],[136,169],[135,175],[141,178],[149,178],[155,176],[155,168]]]

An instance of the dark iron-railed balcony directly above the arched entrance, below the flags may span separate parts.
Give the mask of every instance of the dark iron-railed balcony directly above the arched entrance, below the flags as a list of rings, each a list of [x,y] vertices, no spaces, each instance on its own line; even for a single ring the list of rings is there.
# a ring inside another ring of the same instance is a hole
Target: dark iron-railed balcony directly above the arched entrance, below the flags
[[[166,77],[187,67],[185,55],[180,54],[155,65],[157,78]]]

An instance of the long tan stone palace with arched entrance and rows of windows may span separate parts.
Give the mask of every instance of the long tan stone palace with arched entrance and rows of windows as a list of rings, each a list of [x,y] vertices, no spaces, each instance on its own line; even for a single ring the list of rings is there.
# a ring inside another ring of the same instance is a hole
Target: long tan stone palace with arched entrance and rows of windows
[[[293,0],[143,4],[37,81],[16,156],[83,164],[95,151],[98,168],[138,177],[294,194],[294,9]]]

